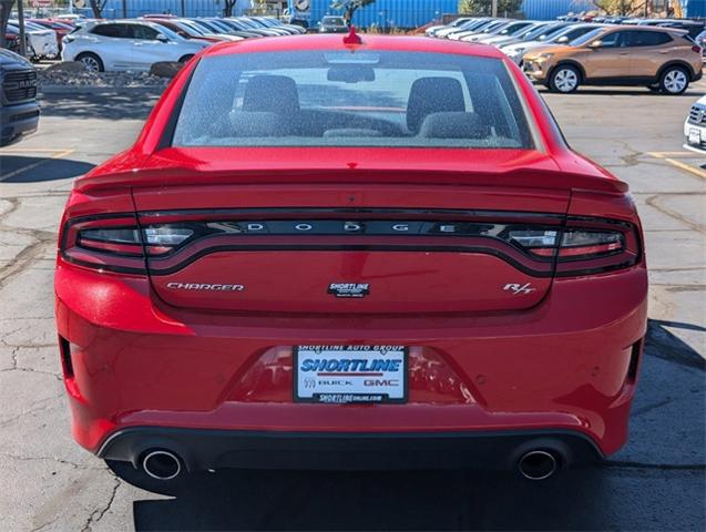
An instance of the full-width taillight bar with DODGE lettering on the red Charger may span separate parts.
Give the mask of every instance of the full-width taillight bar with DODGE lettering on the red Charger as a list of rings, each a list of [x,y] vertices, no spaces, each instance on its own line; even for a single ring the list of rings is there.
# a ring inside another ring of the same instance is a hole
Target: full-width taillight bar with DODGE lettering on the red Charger
[[[151,268],[173,270],[187,264],[193,254],[211,249],[239,250],[247,246],[307,249],[303,239],[311,241],[310,249],[360,248],[366,246],[366,239],[372,239],[371,247],[366,248],[386,250],[402,245],[490,253],[530,275],[545,277],[612,272],[634,266],[642,257],[636,226],[593,217],[567,217],[563,223],[555,219],[556,225],[550,225],[551,217],[519,224],[428,218],[229,219],[216,214],[208,215],[212,219],[190,221],[184,218],[194,216],[191,213],[178,216],[182,218],[178,222],[160,223],[165,216],[141,215],[142,227],[133,214],[74,218],[63,231],[61,254],[82,266],[137,275],[146,274],[147,258]],[[337,238],[344,241],[331,242]]]

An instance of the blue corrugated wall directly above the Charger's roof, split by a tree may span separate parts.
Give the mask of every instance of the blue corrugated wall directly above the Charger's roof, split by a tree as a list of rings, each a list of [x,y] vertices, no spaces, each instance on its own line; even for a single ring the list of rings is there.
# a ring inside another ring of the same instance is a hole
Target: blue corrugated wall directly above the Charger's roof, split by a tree
[[[341,14],[330,8],[331,0],[289,0],[293,19],[315,27],[326,14]],[[418,28],[444,14],[457,13],[458,0],[377,0],[354,16],[358,28]]]

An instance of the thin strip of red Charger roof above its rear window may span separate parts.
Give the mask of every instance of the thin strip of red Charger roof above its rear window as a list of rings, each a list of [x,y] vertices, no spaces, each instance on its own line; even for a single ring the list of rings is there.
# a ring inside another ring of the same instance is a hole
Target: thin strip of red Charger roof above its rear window
[[[460,55],[475,55],[483,58],[504,59],[500,50],[487,44],[471,44],[468,42],[447,39],[428,39],[424,37],[391,37],[361,34],[362,44],[346,44],[340,33],[316,35],[287,35],[268,39],[246,39],[238,42],[215,44],[203,52],[203,57],[228,55],[232,53],[258,53],[283,51],[316,51],[316,50],[385,50],[399,52],[431,52],[452,53]]]

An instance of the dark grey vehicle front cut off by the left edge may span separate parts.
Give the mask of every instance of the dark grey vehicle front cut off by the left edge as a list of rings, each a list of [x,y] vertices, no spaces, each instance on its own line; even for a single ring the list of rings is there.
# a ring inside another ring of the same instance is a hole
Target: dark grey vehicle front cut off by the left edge
[[[27,59],[0,49],[0,146],[37,131],[37,71]]]

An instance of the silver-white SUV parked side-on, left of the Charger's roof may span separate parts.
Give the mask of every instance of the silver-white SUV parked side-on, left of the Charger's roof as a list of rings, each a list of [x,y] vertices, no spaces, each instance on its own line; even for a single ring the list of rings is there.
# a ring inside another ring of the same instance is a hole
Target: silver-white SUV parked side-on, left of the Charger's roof
[[[64,37],[62,59],[92,72],[149,71],[160,61],[186,62],[208,47],[153,22],[115,20],[89,23]]]

